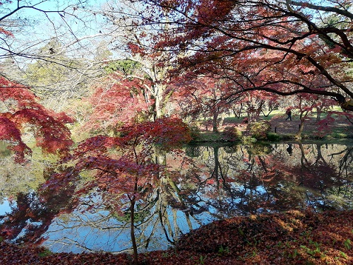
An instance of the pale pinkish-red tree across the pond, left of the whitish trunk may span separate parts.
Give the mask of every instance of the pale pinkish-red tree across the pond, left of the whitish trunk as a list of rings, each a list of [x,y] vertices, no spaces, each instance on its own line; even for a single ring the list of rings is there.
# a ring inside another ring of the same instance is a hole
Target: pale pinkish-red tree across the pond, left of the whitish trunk
[[[104,76],[92,82],[90,113],[83,129],[93,134],[117,136],[121,126],[149,120],[154,100],[150,98],[150,81],[136,77],[140,64],[116,60],[107,64]]]

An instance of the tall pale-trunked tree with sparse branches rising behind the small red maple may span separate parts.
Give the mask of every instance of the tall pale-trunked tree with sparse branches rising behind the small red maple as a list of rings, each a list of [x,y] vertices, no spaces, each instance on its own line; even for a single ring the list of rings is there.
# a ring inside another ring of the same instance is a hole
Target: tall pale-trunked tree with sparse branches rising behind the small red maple
[[[155,28],[164,28],[164,24],[143,26],[139,15],[143,10],[144,6],[136,1],[109,1],[95,12],[104,18],[102,33],[116,60],[131,60],[139,65],[131,78],[147,81],[144,86],[152,102],[152,119],[158,119],[171,114],[168,103],[173,90],[168,86],[167,76],[170,55],[152,49],[155,39],[151,33]]]

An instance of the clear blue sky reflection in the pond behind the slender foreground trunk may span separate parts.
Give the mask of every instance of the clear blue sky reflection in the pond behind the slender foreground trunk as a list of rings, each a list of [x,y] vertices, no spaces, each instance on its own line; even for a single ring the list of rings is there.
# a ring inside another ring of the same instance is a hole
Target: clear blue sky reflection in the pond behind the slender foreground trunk
[[[190,232],[186,213],[176,211],[173,218],[172,208],[167,208],[168,220],[164,225],[160,223],[160,216],[152,208],[150,225],[138,225],[136,227],[136,239],[150,237],[148,248],[140,248],[140,252],[172,247],[169,240],[174,241],[179,235]],[[199,228],[201,224],[210,223],[210,216],[206,213],[197,216],[189,216],[192,229]],[[171,234],[172,233],[172,234]],[[167,235],[167,236],[166,236]],[[75,211],[71,214],[55,218],[43,237],[47,240],[43,243],[52,252],[106,251],[121,252],[131,249],[131,236],[128,224],[109,216],[108,211],[96,213],[81,213]],[[175,238],[173,238],[175,237]]]

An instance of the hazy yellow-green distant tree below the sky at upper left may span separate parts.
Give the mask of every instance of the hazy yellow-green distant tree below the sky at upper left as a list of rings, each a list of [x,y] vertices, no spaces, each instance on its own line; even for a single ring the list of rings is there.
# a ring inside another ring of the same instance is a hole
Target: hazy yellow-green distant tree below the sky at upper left
[[[75,100],[88,95],[92,78],[101,72],[83,59],[68,57],[66,47],[54,38],[40,48],[38,55],[48,58],[28,64],[22,80],[54,110],[71,109]]]

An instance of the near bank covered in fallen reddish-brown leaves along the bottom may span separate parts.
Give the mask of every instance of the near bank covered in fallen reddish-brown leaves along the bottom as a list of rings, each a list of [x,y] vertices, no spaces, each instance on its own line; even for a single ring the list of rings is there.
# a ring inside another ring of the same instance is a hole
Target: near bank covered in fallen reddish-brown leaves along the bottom
[[[184,235],[140,264],[353,264],[353,211],[289,211],[229,218]],[[132,264],[128,254],[50,254],[0,245],[0,264]]]

